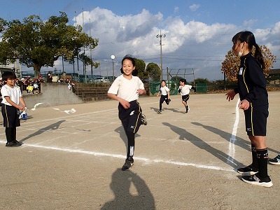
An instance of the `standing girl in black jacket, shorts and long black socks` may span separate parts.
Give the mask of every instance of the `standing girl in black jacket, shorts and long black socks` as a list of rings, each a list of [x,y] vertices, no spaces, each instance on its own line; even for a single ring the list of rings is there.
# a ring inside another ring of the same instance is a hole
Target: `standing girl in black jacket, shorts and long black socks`
[[[232,38],[232,51],[240,57],[237,87],[228,92],[227,99],[239,94],[239,108],[244,110],[246,132],[251,141],[253,162],[248,167],[237,169],[243,174],[246,183],[262,187],[271,187],[272,181],[267,174],[267,146],[265,144],[268,94],[266,90],[265,62],[255,36],[250,31],[241,31]],[[255,55],[252,55],[253,47]]]

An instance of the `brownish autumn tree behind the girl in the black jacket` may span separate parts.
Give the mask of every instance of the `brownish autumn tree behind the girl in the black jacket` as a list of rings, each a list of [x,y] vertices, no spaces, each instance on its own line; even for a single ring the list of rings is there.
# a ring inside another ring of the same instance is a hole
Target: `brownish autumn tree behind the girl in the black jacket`
[[[274,62],[276,62],[276,56],[265,45],[259,45],[260,50],[262,51],[262,56],[264,57],[265,62],[265,76],[267,76],[267,71],[273,68]],[[253,48],[253,55],[255,53],[255,48]],[[237,57],[232,50],[228,51],[228,54],[225,55],[225,60],[222,62],[222,71],[225,73],[225,77],[230,81],[237,80],[237,73],[239,70],[240,59]]]

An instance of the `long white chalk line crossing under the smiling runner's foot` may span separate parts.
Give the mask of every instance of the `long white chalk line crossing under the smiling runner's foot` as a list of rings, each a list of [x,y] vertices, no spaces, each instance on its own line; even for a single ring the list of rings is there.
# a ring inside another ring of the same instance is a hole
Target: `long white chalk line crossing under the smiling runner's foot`
[[[6,144],[6,141],[0,141],[0,144]],[[94,156],[99,156],[99,157],[111,157],[111,158],[120,158],[120,159],[127,158],[125,155],[117,155],[117,154],[111,154],[111,153],[99,153],[99,152],[94,152],[94,151],[83,151],[83,150],[69,149],[69,148],[59,148],[59,147],[54,147],[54,146],[42,146],[42,145],[37,145],[37,144],[23,144],[21,146],[21,148],[22,147],[43,148],[43,149],[53,150],[53,151],[63,151],[63,152],[67,152],[67,153],[80,153],[80,154],[94,155]],[[189,163],[189,162],[176,162],[176,161],[172,161],[172,160],[160,160],[160,159],[151,160],[148,158],[141,158],[141,157],[137,157],[134,159],[140,160],[141,162],[144,162],[145,164],[165,163],[165,164],[171,164],[171,165],[192,166],[192,167],[197,167],[197,168],[201,168],[201,169],[213,169],[213,170],[224,171],[224,172],[235,172],[234,169],[226,169],[223,167],[216,167],[216,166],[211,166],[211,165],[197,165],[197,164]]]

